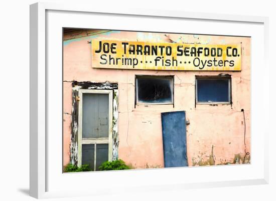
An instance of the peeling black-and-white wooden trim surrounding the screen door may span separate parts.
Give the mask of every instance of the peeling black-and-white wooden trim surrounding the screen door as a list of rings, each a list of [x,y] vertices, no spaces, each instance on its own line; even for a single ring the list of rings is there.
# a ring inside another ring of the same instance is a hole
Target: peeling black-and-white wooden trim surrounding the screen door
[[[110,137],[109,146],[111,146],[109,149],[109,160],[116,160],[118,159],[118,84],[117,83],[95,83],[95,82],[72,82],[72,123],[71,123],[71,143],[70,143],[70,163],[75,165],[80,165],[78,163],[78,156],[80,156],[79,151],[81,151],[81,147],[78,145],[79,138],[81,136],[78,136],[79,132],[79,107],[80,105],[80,96],[82,93],[89,93],[90,89],[97,90],[97,93],[104,93],[104,89],[112,90],[112,94],[109,95],[109,100],[111,100],[110,105],[110,111],[112,109],[112,113],[110,112],[110,117],[112,116],[112,119],[110,118],[110,132],[112,138]],[[86,91],[88,90],[88,91]],[[102,90],[102,91],[101,91]],[[81,139],[81,141],[86,141],[90,143],[91,139]],[[104,140],[104,139],[102,139]],[[100,140],[100,141],[102,141]],[[84,142],[84,143],[86,143]],[[92,142],[91,142],[92,143]],[[96,143],[100,143],[97,141]],[[104,142],[105,143],[105,142]],[[80,143],[81,144],[81,143]]]

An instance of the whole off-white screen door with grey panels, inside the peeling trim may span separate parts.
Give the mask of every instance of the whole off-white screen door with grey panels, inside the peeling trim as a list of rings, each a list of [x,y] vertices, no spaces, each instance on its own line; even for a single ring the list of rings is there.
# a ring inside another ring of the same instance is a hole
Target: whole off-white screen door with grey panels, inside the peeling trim
[[[79,165],[89,164],[92,170],[98,170],[112,153],[112,90],[84,90],[80,94]]]

